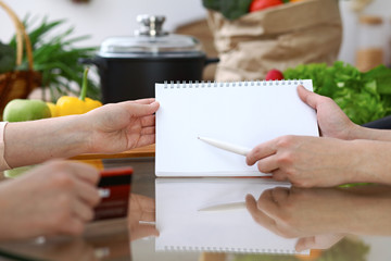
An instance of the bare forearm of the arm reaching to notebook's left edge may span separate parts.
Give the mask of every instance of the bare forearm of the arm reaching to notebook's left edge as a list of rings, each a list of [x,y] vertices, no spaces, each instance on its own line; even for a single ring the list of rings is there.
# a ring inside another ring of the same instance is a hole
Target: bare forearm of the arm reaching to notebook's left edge
[[[87,152],[88,126],[78,115],[9,123],[4,158],[11,167]]]

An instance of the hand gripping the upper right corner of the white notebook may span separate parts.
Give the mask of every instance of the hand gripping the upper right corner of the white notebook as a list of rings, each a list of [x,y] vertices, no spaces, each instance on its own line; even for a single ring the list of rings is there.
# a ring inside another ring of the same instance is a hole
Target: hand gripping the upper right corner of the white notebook
[[[298,86],[298,94],[306,104],[316,110],[321,136],[339,139],[352,138],[353,129],[358,126],[343,113],[332,99],[312,92],[302,85]]]

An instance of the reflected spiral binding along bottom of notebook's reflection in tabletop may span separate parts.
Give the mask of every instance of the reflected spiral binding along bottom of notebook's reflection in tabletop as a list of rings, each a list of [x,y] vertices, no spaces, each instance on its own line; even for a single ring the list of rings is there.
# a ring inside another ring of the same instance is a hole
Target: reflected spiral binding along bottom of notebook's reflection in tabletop
[[[232,253],[270,253],[270,254],[292,254],[298,253],[294,249],[272,249],[272,248],[229,248],[229,247],[197,247],[197,246],[165,246],[161,251],[176,252],[232,252]]]

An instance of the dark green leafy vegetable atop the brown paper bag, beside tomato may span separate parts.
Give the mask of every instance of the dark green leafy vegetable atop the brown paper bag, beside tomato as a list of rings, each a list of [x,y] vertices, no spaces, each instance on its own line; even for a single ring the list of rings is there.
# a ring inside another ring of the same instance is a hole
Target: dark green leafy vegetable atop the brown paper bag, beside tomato
[[[249,13],[252,0],[202,0],[206,9],[220,12],[228,20],[236,20]]]

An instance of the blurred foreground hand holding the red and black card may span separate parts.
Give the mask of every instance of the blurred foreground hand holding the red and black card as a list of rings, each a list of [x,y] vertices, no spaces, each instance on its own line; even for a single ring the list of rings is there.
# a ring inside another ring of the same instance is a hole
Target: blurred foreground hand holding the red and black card
[[[78,235],[100,201],[97,169],[52,161],[0,183],[0,240]]]

